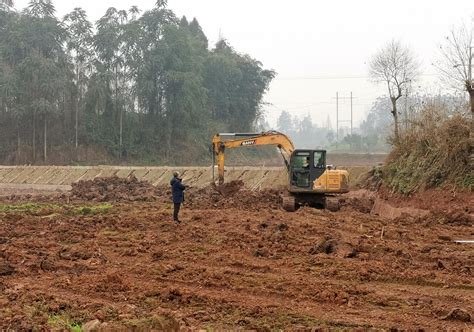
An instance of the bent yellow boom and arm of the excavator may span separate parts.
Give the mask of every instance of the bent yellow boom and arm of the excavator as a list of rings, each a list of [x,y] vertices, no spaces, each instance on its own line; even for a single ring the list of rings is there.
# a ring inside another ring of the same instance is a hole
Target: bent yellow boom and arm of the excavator
[[[291,154],[295,150],[291,139],[277,131],[268,131],[260,134],[217,134],[212,139],[213,163],[212,178],[214,181],[214,168],[217,159],[219,184],[224,183],[225,150],[230,148],[251,147],[259,145],[273,145],[280,149],[287,169]]]

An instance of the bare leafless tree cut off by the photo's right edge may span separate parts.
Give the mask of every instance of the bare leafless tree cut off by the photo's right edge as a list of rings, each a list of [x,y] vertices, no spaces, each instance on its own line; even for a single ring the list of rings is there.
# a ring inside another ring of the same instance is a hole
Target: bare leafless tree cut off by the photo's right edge
[[[469,94],[471,105],[471,163],[474,165],[474,18],[469,25],[451,30],[440,47],[441,60],[437,64],[443,79],[451,87]]]

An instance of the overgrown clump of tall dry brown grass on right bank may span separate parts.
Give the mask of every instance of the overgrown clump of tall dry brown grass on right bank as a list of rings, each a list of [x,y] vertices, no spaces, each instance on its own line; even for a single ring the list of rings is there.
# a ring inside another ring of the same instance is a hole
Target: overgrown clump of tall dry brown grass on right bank
[[[383,169],[385,185],[406,195],[444,185],[474,190],[470,121],[466,114],[423,109],[394,145]]]

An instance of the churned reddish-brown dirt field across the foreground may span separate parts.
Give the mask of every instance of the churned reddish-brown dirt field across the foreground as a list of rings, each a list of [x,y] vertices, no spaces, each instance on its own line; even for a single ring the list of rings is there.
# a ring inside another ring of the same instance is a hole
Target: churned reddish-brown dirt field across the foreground
[[[157,193],[113,207],[3,198],[0,329],[474,326],[474,247],[453,242],[472,223],[287,213],[276,192],[201,190],[177,226]]]

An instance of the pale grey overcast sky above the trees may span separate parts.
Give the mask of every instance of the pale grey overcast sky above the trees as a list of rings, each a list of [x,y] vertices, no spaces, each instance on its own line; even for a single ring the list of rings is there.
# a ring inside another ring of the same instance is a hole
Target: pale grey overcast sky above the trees
[[[28,1],[15,3],[23,8]],[[111,6],[137,5],[146,10],[154,3],[54,1],[58,16],[82,7],[92,21]],[[335,126],[336,92],[349,97],[351,91],[358,124],[373,100],[385,93],[383,87],[368,82],[368,59],[393,38],[411,47],[422,61],[424,76],[417,86],[438,92],[433,83],[436,70],[431,66],[437,46],[454,25],[474,17],[473,0],[169,0],[168,7],[178,16],[196,17],[212,43],[221,33],[236,50],[278,73],[265,97],[271,125],[281,110],[288,110],[295,116],[310,114],[320,125],[330,116]],[[340,111],[342,120],[350,118],[347,99],[341,100]]]

